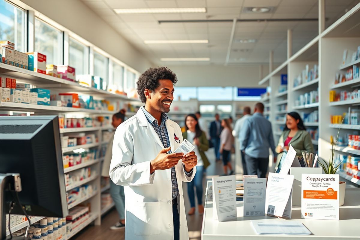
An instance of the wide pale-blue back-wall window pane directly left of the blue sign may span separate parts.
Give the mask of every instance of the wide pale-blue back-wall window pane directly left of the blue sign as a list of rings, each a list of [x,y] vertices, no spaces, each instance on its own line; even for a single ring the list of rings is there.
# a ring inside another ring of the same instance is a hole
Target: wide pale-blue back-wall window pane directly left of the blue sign
[[[198,87],[199,101],[231,101],[233,87]]]

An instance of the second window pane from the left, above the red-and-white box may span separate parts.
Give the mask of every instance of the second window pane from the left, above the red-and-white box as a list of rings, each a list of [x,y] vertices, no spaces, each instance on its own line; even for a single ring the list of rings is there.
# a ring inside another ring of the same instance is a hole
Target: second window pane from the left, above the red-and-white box
[[[61,32],[35,18],[35,51],[46,55],[47,64],[60,64]]]

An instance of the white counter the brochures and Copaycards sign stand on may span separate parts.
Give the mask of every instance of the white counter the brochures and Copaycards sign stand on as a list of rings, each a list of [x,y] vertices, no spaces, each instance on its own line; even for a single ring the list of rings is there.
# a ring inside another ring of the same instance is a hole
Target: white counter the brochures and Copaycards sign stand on
[[[207,189],[212,185],[212,181],[207,182],[205,199],[207,199]],[[289,236],[289,235],[257,235],[253,230],[251,220],[255,219],[277,219],[274,217],[243,217],[243,203],[237,202],[237,221],[219,222],[212,218],[212,201],[205,201],[204,215],[201,229],[202,240],[232,240],[232,239],[262,239],[275,240],[287,239],[289,237],[297,240],[312,239],[360,239],[360,191],[346,191],[345,204],[340,207],[340,220],[318,220],[302,219],[301,208],[292,208],[292,219],[279,219],[278,221],[300,221],[307,227],[312,235]],[[242,237],[242,238],[240,238]]]

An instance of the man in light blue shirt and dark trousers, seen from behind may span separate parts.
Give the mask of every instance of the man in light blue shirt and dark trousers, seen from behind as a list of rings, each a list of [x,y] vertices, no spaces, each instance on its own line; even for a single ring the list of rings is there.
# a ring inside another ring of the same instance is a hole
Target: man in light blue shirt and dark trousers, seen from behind
[[[264,104],[255,105],[254,114],[247,118],[240,130],[241,151],[244,151],[248,175],[266,177],[269,148],[276,159],[271,123],[263,116]]]

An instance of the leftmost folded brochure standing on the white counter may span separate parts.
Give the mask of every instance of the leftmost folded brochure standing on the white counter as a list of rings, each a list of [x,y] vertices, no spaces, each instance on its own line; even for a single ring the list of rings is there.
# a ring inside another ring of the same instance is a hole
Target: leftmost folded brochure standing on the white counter
[[[237,219],[235,175],[212,178],[213,218],[219,222]]]

